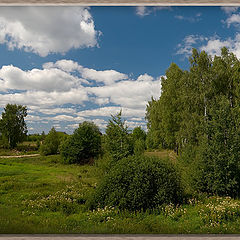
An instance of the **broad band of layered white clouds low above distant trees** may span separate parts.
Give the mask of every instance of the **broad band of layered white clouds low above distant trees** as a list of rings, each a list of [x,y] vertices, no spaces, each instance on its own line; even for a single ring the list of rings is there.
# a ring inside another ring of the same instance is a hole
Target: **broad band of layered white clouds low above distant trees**
[[[69,123],[69,129],[89,119],[104,129],[106,118],[120,110],[131,126],[143,124],[146,105],[152,96],[159,97],[160,89],[160,78],[147,73],[131,79],[115,70],[89,69],[66,59],[47,62],[42,69],[12,65],[0,69],[0,107],[26,105],[28,123]]]

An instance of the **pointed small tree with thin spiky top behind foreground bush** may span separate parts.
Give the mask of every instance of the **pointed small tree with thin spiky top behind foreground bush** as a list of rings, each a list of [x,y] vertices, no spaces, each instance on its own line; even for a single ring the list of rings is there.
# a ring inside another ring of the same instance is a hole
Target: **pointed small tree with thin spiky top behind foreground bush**
[[[132,154],[133,146],[128,134],[128,127],[121,118],[120,111],[116,116],[112,116],[106,129],[106,147],[110,156],[114,160],[127,157]]]

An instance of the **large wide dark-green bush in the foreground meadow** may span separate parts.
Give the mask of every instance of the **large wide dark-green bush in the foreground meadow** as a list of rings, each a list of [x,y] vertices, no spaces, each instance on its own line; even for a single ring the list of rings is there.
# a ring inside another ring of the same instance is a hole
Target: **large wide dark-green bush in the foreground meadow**
[[[182,198],[179,176],[169,160],[130,156],[105,175],[88,204],[91,209],[114,206],[134,211],[177,204]]]

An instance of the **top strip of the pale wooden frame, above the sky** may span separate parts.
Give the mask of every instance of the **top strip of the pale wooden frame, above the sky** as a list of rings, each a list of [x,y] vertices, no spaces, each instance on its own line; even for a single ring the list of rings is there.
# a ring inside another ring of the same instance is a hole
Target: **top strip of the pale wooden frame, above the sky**
[[[89,6],[240,6],[240,0],[0,0],[0,5],[89,5]]]

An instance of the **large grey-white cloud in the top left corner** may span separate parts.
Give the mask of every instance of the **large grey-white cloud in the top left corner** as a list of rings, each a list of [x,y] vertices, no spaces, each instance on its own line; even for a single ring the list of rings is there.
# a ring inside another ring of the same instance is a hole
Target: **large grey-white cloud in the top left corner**
[[[1,7],[0,43],[42,57],[97,46],[100,32],[84,7]]]

